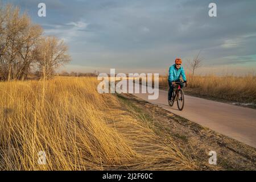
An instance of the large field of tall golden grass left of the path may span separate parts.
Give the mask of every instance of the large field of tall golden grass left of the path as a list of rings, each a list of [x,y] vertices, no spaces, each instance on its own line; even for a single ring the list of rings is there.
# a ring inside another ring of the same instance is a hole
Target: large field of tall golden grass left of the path
[[[198,169],[95,78],[0,83],[0,169]],[[43,91],[44,90],[44,91]],[[46,152],[46,165],[38,152]]]

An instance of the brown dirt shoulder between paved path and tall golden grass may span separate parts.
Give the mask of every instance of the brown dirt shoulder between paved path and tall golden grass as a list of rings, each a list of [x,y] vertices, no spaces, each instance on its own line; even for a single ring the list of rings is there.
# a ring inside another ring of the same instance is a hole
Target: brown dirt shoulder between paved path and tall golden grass
[[[213,130],[191,122],[150,104],[132,94],[118,95],[127,107],[133,107],[138,114],[148,119],[148,125],[162,139],[172,138],[192,159],[200,163],[200,169],[211,169],[208,164],[209,151],[216,151],[220,170],[256,170],[256,149]]]

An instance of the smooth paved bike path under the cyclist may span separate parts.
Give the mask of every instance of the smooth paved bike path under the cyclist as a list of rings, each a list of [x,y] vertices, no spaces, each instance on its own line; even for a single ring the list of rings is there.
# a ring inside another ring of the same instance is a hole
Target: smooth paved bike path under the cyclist
[[[177,109],[177,102],[172,107],[168,105],[167,95],[167,91],[159,90],[157,100],[148,100],[148,94],[134,94],[134,96],[159,105],[174,114],[199,123],[201,126],[209,127],[218,133],[256,148],[255,109],[185,95],[184,109],[180,111]]]

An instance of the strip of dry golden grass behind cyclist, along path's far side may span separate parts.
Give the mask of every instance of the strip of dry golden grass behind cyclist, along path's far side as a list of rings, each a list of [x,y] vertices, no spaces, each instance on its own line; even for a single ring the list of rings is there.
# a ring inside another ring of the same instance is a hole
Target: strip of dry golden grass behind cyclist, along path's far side
[[[256,104],[256,77],[192,76],[187,75],[188,92],[201,96],[221,98],[228,101]],[[167,77],[159,78],[159,85],[168,88]]]

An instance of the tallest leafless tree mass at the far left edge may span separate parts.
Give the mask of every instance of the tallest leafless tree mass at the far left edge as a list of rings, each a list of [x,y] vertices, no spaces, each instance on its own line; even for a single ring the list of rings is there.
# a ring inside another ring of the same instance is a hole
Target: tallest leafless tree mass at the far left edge
[[[32,24],[26,13],[20,15],[18,7],[6,5],[0,9],[0,77],[3,80],[27,77],[36,41],[42,28]]]

